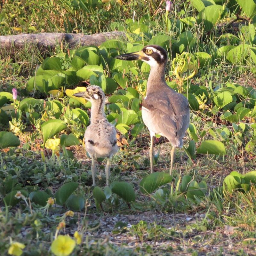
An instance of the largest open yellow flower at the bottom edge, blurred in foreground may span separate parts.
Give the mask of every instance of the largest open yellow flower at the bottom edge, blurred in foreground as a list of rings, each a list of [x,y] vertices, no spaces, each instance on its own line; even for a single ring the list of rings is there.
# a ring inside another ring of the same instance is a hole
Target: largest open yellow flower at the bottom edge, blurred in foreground
[[[56,240],[52,242],[51,251],[56,256],[68,256],[76,245],[76,242],[69,236],[58,236]]]

